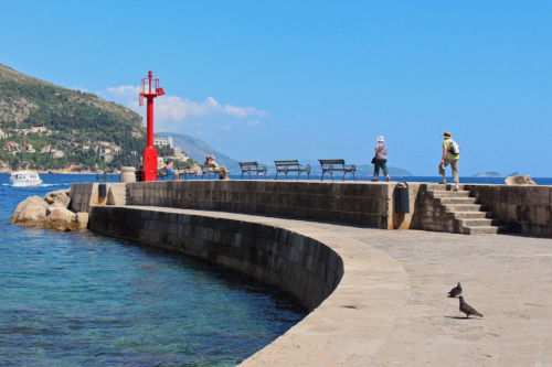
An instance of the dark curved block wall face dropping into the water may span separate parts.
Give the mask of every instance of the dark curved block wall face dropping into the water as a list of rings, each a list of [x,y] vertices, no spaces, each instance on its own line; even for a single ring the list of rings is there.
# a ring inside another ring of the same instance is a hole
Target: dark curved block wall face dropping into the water
[[[343,277],[326,245],[278,227],[171,209],[94,206],[89,229],[222,265],[295,295],[309,311]]]

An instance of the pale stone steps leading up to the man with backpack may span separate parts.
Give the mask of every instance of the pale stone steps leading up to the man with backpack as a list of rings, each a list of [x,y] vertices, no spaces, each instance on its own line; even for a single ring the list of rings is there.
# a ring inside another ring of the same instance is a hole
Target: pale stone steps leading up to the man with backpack
[[[507,230],[485,205],[478,204],[476,197],[470,197],[469,191],[456,192],[448,185],[432,185],[427,192],[446,213],[453,215],[453,220],[457,222],[455,227],[461,234],[498,234]]]

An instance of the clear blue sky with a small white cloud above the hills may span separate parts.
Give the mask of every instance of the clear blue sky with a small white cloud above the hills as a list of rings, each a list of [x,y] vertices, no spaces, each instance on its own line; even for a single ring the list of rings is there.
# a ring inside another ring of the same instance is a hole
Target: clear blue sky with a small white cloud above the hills
[[[137,107],[240,160],[552,176],[550,1],[3,1],[0,63]]]

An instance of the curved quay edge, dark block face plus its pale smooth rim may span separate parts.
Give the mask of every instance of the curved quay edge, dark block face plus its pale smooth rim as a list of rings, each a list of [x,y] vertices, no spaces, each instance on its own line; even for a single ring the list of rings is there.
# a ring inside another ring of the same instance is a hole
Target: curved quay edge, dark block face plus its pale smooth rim
[[[89,228],[236,269],[279,287],[312,311],[243,366],[364,366],[408,298],[408,276],[395,259],[310,222],[93,206]]]

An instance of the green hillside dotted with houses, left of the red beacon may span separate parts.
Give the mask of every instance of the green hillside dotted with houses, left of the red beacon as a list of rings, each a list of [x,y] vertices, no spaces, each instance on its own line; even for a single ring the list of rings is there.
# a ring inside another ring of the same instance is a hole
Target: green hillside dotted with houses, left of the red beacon
[[[138,166],[145,136],[141,117],[126,107],[0,64],[3,170]]]

